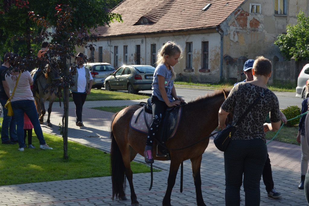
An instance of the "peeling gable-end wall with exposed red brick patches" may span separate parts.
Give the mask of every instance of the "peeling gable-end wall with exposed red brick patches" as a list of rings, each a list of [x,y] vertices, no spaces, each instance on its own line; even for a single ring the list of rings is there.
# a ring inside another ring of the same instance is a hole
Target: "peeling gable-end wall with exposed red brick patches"
[[[250,3],[260,4],[261,14],[250,14]],[[308,16],[308,1],[287,0],[287,15],[275,15],[274,8],[274,1],[248,0],[222,22],[220,28],[224,33],[223,56],[235,59],[245,56],[254,59],[261,55],[266,58],[275,55],[282,61],[283,56],[274,41],[279,34],[286,32],[288,24],[297,23],[296,15],[301,9]],[[225,67],[224,70],[226,69]],[[229,76],[225,78],[239,81],[241,72],[242,67],[235,67],[227,72]]]

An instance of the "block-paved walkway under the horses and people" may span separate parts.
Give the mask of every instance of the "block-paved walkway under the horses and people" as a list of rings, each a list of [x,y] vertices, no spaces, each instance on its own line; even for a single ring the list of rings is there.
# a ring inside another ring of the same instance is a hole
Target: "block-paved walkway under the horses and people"
[[[95,106],[126,106],[140,101],[86,101],[83,108],[84,127],[75,125],[74,103],[69,105],[69,139],[91,147],[110,152],[109,130],[113,113],[91,109]],[[60,135],[58,124],[62,121],[63,108],[57,102],[53,105],[51,122],[53,127],[42,125],[44,132]],[[46,105],[47,106],[47,105]],[[296,136],[295,136],[296,138]],[[62,148],[54,148],[62,149]],[[268,144],[269,157],[273,169],[273,179],[277,191],[282,197],[274,200],[267,197],[265,186],[261,180],[260,205],[308,205],[303,190],[298,190],[300,181],[300,146],[271,142]],[[25,151],[26,152],[26,151]],[[144,158],[137,155],[135,161],[144,162]],[[154,173],[154,183],[151,191],[150,174],[134,174],[133,182],[138,201],[142,206],[162,205],[167,187],[169,161],[155,161],[156,167],[162,172]],[[82,166],[82,165],[81,165]],[[224,161],[223,152],[215,148],[212,138],[203,154],[202,165],[202,193],[206,205],[225,205],[224,194]],[[180,175],[178,174],[175,187],[171,195],[171,204],[196,205],[196,195],[190,161],[184,162],[183,192],[180,193]],[[112,188],[110,177],[73,179],[53,182],[37,182],[21,185],[0,186],[0,205],[131,205],[131,201],[111,200]],[[130,191],[127,186],[127,198]],[[243,188],[241,191],[241,205],[245,204]]]

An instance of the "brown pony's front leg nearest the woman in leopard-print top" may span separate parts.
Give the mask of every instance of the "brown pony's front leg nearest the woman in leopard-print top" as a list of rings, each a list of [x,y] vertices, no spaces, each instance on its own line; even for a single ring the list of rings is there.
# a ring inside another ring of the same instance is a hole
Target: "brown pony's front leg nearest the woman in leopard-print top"
[[[202,155],[200,157],[190,159],[192,164],[193,180],[196,191],[196,202],[198,206],[206,206],[203,200],[202,189],[201,189],[201,161]]]

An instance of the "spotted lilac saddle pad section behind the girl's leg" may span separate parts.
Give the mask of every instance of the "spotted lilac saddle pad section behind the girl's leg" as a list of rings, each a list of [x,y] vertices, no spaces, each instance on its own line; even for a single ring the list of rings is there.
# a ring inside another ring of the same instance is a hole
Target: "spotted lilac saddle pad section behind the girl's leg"
[[[144,109],[144,107],[141,107],[141,108],[139,108],[138,110],[135,111],[135,113],[131,117],[130,127],[137,130],[137,131],[140,131],[144,134],[147,134],[148,133],[148,127],[150,126],[151,121],[152,121],[152,114],[143,112],[142,111],[143,109]],[[142,113],[138,117],[138,114],[140,112],[142,112]],[[146,115],[147,122],[145,122],[144,115]],[[137,121],[136,121],[136,118],[138,118]],[[135,123],[135,121],[136,121],[136,123]],[[148,125],[148,127],[147,127],[146,124]]]

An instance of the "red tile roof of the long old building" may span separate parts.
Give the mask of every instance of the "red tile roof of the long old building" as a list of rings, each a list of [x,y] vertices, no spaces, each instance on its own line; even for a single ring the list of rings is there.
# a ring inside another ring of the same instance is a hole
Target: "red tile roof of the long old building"
[[[98,27],[97,30],[102,36],[118,36],[216,27],[243,2],[244,0],[124,0],[111,11],[120,14],[123,23],[110,23],[110,27]],[[202,11],[209,3],[211,6]],[[148,19],[150,24],[139,25],[138,21],[142,17]]]

